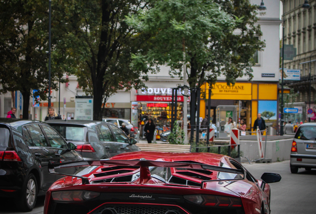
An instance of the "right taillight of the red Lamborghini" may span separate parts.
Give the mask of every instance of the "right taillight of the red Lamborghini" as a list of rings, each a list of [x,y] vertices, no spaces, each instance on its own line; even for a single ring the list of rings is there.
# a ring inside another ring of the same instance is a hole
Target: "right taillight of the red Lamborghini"
[[[213,195],[187,195],[184,198],[194,204],[212,207],[242,207],[240,198],[213,196]]]

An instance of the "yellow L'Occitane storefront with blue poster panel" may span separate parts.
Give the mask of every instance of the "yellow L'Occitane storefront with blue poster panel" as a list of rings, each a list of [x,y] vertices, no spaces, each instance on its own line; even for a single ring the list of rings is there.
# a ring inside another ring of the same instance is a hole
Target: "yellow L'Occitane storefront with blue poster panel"
[[[203,118],[207,114],[208,89],[208,84],[201,87],[200,116]],[[241,101],[240,118],[245,120],[247,129],[253,126],[258,113],[265,113],[267,117],[263,118],[266,122],[276,126],[277,90],[277,83],[237,82],[234,86],[228,86],[226,82],[217,82],[212,87],[211,116],[216,115],[214,114],[216,106],[238,105],[238,102]],[[238,108],[237,110],[239,111]]]

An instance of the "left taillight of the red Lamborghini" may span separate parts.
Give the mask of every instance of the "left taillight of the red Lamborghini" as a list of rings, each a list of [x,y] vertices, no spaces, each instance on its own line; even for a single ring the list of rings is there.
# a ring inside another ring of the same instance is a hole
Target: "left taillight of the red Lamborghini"
[[[54,201],[64,201],[64,202],[82,202],[98,197],[100,193],[74,190],[74,191],[59,191],[52,192],[52,198]]]

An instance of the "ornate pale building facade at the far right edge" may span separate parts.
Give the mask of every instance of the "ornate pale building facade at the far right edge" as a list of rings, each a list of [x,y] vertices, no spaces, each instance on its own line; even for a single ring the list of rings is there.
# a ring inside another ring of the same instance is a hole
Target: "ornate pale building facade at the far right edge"
[[[285,119],[295,122],[307,119],[307,109],[316,111],[316,0],[309,0],[309,9],[302,8],[305,0],[283,0],[284,2],[284,44],[297,50],[293,60],[285,60],[284,68],[300,69],[301,80],[285,81],[285,87],[293,88],[296,96],[285,107],[302,108],[302,113],[286,113]],[[311,73],[311,81],[310,81]],[[311,93],[310,93],[311,86]],[[311,101],[311,103],[310,103]],[[315,120],[316,117],[312,117]]]

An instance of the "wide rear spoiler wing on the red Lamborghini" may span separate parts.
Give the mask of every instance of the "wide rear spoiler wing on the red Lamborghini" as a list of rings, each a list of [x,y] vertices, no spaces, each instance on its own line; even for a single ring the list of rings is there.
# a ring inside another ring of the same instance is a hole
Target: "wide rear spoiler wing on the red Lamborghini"
[[[69,168],[69,167],[82,167],[82,166],[108,166],[108,165],[121,165],[121,166],[140,166],[142,168],[147,168],[149,166],[156,167],[181,167],[181,168],[189,168],[189,169],[209,169],[219,172],[227,172],[234,174],[245,174],[245,170],[241,169],[233,169],[226,168],[221,166],[207,165],[203,163],[189,163],[189,162],[171,162],[171,161],[157,161],[157,160],[81,160],[74,162],[66,162],[66,163],[54,163],[49,161],[48,170],[52,174],[66,175],[72,177],[81,178],[82,184],[89,184],[89,178],[71,174],[63,174],[55,172],[55,169],[58,168]],[[141,173],[143,174],[143,173]],[[240,179],[229,179],[229,180],[240,180]],[[212,181],[212,180],[207,180]],[[223,180],[213,180],[213,181],[223,181]],[[201,187],[203,183],[201,182]]]

